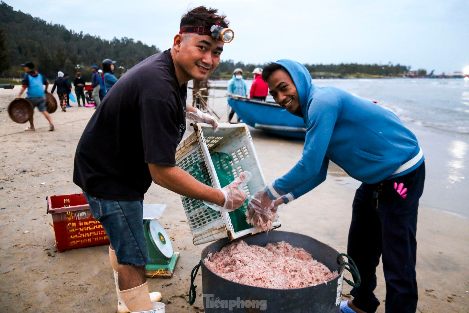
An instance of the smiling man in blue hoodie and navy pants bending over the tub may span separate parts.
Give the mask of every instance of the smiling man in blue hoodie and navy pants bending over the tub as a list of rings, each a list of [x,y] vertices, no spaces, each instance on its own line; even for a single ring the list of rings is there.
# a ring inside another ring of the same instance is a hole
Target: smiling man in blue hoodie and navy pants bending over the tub
[[[386,279],[386,312],[415,313],[416,223],[424,189],[424,155],[415,135],[399,118],[371,101],[334,87],[312,84],[298,62],[279,60],[262,78],[280,106],[303,117],[303,157],[286,175],[250,200],[251,214],[276,212],[322,183],[329,160],[362,182],[353,202],[348,255],[362,283],[343,301],[344,313],[373,313],[376,267],[380,256]]]

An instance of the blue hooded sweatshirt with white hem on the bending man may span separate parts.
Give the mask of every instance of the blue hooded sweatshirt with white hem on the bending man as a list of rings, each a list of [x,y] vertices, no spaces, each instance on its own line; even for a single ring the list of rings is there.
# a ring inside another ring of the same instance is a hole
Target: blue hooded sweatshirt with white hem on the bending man
[[[306,125],[303,157],[267,187],[287,203],[324,182],[329,160],[363,183],[405,175],[423,161],[415,135],[391,111],[335,87],[316,87],[300,63],[279,60],[293,79]]]

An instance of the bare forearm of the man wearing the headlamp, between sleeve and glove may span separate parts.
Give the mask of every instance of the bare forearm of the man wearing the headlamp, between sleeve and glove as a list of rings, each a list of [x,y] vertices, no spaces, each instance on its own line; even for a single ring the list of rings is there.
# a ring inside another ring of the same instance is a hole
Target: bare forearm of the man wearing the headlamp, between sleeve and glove
[[[153,182],[182,196],[205,200],[219,206],[225,203],[225,197],[218,189],[207,186],[190,176],[177,166],[148,164]]]

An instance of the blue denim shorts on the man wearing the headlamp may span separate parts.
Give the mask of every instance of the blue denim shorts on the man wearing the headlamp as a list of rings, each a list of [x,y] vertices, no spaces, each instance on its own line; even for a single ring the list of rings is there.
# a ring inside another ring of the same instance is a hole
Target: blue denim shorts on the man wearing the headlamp
[[[142,201],[116,201],[83,192],[96,221],[101,222],[115,250],[117,262],[144,266],[150,262],[146,245]]]

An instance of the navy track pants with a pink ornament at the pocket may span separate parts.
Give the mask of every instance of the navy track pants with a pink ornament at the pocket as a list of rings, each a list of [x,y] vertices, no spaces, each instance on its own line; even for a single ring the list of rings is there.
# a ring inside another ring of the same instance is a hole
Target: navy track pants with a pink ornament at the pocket
[[[356,190],[348,233],[348,255],[355,261],[362,284],[350,292],[353,304],[374,313],[379,300],[376,267],[383,260],[386,280],[386,313],[415,313],[417,308],[416,231],[418,201],[424,191],[425,163],[414,171]],[[394,190],[404,183],[407,197]]]

